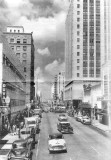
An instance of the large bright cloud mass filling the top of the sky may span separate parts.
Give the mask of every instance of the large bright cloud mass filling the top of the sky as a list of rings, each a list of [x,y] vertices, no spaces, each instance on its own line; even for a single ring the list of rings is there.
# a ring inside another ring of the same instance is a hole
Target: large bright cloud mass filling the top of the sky
[[[68,0],[4,0],[1,12],[8,25],[22,25],[38,41],[63,41]],[[4,14],[5,13],[5,14]]]

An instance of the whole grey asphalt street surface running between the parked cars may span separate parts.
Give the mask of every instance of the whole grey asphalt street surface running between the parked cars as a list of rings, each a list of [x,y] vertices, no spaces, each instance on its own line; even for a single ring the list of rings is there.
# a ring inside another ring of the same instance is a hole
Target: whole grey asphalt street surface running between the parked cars
[[[74,134],[64,134],[67,153],[49,154],[48,133],[57,131],[57,113],[43,113],[41,132],[34,149],[33,160],[111,160],[111,140],[91,126],[83,125],[69,117]]]

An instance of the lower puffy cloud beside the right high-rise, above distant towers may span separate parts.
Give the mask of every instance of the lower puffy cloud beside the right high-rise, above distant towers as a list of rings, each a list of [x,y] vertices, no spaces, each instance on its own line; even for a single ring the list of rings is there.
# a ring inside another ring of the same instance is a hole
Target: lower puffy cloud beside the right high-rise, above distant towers
[[[54,76],[58,74],[60,71],[64,71],[64,66],[64,62],[59,63],[59,61],[55,60],[45,67],[45,71],[47,71],[50,75]]]

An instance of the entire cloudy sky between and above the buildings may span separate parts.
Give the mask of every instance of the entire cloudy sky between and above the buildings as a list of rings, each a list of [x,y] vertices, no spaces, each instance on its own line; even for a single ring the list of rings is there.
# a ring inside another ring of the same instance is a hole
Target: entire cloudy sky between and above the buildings
[[[0,31],[20,25],[25,32],[33,32],[35,79],[44,98],[50,97],[54,75],[64,70],[68,6],[69,0],[0,0]]]

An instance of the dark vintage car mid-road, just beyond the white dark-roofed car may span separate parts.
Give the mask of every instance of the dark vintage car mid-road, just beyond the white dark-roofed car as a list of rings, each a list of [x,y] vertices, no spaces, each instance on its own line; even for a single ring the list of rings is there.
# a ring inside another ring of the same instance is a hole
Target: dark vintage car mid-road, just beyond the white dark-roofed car
[[[73,127],[70,125],[70,122],[58,122],[57,129],[61,133],[73,133]]]

